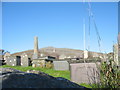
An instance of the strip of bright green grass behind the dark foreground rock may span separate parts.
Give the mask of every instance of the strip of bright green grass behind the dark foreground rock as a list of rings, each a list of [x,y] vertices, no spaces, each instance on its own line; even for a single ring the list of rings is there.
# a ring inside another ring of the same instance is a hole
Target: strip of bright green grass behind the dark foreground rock
[[[0,67],[9,67],[9,68],[14,68],[14,69],[17,69],[17,70],[20,70],[20,71],[24,71],[26,72],[27,70],[37,70],[37,71],[42,71],[44,73],[47,73],[51,76],[54,76],[54,77],[63,77],[63,78],[66,78],[68,80],[70,80],[70,71],[56,71],[56,70],[53,70],[53,69],[48,69],[48,68],[40,68],[40,67],[21,67],[21,66],[8,66],[8,65],[3,65],[3,66],[0,66]],[[84,86],[84,87],[87,87],[87,88],[92,88],[91,85],[88,85],[88,84],[85,84],[85,83],[82,83],[80,84],[81,86]]]

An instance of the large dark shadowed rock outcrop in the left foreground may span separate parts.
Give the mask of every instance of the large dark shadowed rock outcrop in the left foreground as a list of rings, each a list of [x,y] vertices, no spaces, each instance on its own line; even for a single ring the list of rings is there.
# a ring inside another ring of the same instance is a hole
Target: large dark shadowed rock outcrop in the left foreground
[[[43,72],[21,72],[12,68],[1,68],[2,88],[81,88],[67,79],[52,77]],[[37,73],[37,74],[35,74]]]

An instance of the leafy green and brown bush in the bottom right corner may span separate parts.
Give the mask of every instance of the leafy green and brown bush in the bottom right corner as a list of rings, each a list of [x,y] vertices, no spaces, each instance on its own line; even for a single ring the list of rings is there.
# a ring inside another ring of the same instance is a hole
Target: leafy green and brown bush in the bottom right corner
[[[113,60],[102,62],[100,68],[101,88],[120,88],[120,71]]]

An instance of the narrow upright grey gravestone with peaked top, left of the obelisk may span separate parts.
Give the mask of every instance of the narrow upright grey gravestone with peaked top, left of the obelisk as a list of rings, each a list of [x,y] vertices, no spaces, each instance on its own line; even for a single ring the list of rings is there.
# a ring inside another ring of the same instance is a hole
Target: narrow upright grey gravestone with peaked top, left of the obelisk
[[[26,53],[23,53],[21,55],[21,66],[23,66],[23,67],[30,66],[30,58],[28,57],[28,55]]]

